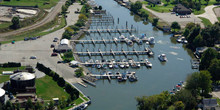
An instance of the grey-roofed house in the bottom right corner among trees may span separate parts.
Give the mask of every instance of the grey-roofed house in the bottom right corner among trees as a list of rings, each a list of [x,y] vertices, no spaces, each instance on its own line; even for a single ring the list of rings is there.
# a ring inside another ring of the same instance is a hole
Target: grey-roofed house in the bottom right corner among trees
[[[216,99],[203,99],[202,104],[203,110],[215,110],[215,107],[218,105]]]

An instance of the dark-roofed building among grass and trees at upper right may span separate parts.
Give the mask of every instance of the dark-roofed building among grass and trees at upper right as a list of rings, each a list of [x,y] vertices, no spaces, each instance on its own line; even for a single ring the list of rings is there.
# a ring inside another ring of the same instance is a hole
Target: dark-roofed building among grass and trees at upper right
[[[176,12],[177,15],[190,15],[192,13],[190,9],[186,8],[182,4],[177,4],[173,8],[173,12]]]

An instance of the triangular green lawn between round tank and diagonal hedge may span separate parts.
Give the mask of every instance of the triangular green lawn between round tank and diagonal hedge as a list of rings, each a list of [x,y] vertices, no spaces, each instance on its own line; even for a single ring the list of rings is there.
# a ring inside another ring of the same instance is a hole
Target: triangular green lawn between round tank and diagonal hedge
[[[50,76],[45,76],[36,80],[37,96],[44,100],[51,100],[52,98],[65,98],[69,97],[69,94],[64,91],[63,88],[57,85],[57,83]]]

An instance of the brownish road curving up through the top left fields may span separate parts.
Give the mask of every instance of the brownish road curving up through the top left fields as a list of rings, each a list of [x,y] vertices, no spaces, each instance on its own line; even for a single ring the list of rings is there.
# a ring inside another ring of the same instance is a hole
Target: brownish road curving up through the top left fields
[[[29,30],[32,30],[32,29],[36,29],[40,26],[43,26],[47,23],[49,23],[50,21],[52,21],[56,15],[58,13],[61,12],[61,7],[63,4],[65,4],[66,0],[60,0],[57,5],[48,13],[48,15],[41,21],[31,25],[31,26],[27,26],[27,27],[24,27],[24,28],[21,28],[21,29],[18,29],[18,30],[15,30],[15,31],[11,31],[11,32],[6,32],[6,33],[0,33],[0,37],[6,37],[6,36],[12,36],[12,35],[16,35],[16,34],[19,34],[19,33],[22,33],[22,32],[26,32],[26,31],[29,31]]]

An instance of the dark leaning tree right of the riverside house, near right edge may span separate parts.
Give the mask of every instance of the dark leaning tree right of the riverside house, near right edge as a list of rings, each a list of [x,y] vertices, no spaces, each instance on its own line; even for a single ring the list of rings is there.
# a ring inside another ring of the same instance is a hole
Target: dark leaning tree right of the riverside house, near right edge
[[[199,65],[199,69],[200,70],[206,70],[209,68],[211,61],[216,58],[218,55],[217,51],[212,49],[212,48],[208,48],[203,54],[202,54],[202,58],[201,58],[201,63]]]

